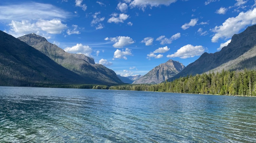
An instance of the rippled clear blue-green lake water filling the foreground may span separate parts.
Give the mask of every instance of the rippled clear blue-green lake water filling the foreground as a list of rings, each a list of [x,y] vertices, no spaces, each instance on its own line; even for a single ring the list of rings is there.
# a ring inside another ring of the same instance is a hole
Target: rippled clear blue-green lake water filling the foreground
[[[0,87],[0,142],[256,142],[256,98]]]

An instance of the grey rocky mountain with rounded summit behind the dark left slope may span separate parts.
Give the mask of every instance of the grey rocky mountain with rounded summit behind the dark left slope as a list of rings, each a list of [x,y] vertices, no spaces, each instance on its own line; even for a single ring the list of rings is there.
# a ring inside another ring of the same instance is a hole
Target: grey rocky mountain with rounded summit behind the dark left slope
[[[84,54],[67,53],[58,46],[48,42],[44,37],[32,33],[18,39],[39,50],[56,63],[88,79],[90,81],[88,84],[122,83],[114,71],[101,64],[95,64],[93,58]]]

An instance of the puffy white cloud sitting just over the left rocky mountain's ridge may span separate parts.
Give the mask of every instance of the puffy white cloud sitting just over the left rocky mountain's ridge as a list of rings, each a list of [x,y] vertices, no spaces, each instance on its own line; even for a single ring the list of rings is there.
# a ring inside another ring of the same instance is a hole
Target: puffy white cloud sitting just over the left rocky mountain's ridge
[[[92,57],[91,53],[93,52],[93,49],[88,45],[83,45],[80,43],[80,44],[76,44],[73,47],[67,47],[64,49],[64,51],[69,53],[84,54],[85,56]]]

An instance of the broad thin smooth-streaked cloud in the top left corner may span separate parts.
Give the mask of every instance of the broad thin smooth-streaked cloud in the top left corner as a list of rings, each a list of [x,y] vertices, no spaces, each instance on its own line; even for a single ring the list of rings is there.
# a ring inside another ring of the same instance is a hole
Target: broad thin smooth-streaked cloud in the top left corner
[[[22,3],[0,5],[0,21],[11,22],[32,19],[66,19],[70,13],[50,4]]]

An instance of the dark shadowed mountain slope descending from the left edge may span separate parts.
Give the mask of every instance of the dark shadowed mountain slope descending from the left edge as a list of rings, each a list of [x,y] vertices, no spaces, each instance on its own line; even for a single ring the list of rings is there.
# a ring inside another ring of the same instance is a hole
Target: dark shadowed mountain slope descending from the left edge
[[[0,31],[0,85],[82,84],[89,82],[15,37]]]

